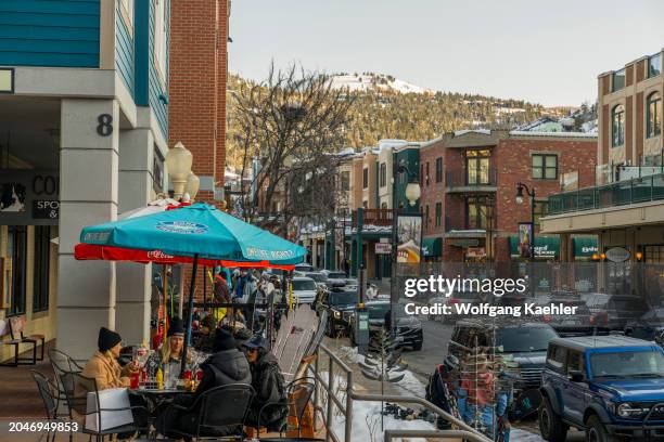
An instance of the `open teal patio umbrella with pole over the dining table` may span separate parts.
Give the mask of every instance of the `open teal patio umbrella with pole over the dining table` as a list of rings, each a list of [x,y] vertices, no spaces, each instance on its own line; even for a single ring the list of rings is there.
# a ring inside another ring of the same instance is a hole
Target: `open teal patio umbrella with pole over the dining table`
[[[192,260],[184,351],[191,334],[199,259],[255,262],[257,266],[266,262],[292,265],[303,262],[307,252],[302,246],[202,203],[88,226],[81,231],[80,242],[115,250],[144,250],[148,258],[154,255],[155,261],[164,255]]]

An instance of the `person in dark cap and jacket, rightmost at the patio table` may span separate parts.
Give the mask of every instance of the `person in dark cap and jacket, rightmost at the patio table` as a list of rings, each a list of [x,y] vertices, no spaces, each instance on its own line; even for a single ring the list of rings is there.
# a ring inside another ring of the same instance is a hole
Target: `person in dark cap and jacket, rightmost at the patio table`
[[[256,392],[246,417],[246,425],[260,426],[268,431],[281,431],[289,408],[285,403],[285,382],[279,362],[268,350],[263,336],[255,336],[244,342],[244,348],[252,369],[252,386]],[[266,404],[271,405],[265,406]]]

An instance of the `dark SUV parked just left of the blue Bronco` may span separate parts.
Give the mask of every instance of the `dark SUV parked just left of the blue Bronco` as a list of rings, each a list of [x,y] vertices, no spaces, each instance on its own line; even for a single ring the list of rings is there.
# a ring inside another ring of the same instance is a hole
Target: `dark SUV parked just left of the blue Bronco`
[[[491,353],[513,360],[519,365],[514,382],[519,391],[539,387],[547,348],[554,338],[553,327],[544,323],[469,318],[455,325],[447,352],[462,358],[477,347],[488,347]]]

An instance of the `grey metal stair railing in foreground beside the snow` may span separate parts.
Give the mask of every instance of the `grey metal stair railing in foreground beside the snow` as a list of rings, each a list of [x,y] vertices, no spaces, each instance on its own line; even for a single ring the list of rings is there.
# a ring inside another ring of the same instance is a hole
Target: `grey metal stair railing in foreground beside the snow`
[[[328,373],[327,378],[323,379],[321,374],[320,362],[321,359],[328,360]],[[345,386],[335,385],[335,369],[337,367],[345,376]],[[437,407],[431,402],[418,398],[418,396],[401,396],[401,395],[390,395],[390,394],[363,394],[358,393],[354,390],[353,384],[353,370],[348,367],[336,354],[332,353],[330,349],[328,349],[324,344],[319,344],[316,351],[316,360],[314,363],[314,367],[309,366],[309,370],[312,372],[314,378],[316,379],[316,388],[314,389],[314,426],[317,426],[318,415],[320,414],[323,420],[323,426],[325,429],[325,441],[333,442],[350,442],[350,434],[353,432],[353,405],[355,401],[366,401],[366,402],[396,402],[396,403],[408,403],[420,405],[432,413],[437,414],[445,420],[449,421],[451,425],[459,428],[459,430],[431,430],[431,431],[422,431],[422,430],[385,430],[385,441],[392,440],[395,437],[429,437],[429,438],[439,438],[439,439],[458,439],[463,438],[465,440],[470,440],[473,442],[491,442],[491,440],[477,430],[473,429],[471,426],[465,424],[463,420],[456,418],[444,410]],[[345,398],[340,400],[335,393],[335,387],[340,387],[341,390],[344,390]],[[324,394],[325,405],[322,404],[322,396]],[[344,439],[340,439],[340,437],[334,432],[333,428],[333,418],[334,418],[334,406],[339,410],[339,412],[344,416]]]

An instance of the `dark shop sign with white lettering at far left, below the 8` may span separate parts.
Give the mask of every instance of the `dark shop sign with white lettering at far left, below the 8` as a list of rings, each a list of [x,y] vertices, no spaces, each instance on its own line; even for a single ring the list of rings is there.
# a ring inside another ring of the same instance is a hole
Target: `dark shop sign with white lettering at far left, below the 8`
[[[60,180],[51,170],[0,170],[0,224],[56,225]]]

